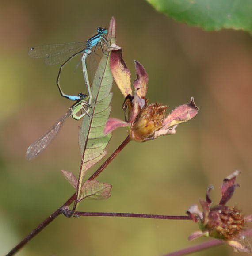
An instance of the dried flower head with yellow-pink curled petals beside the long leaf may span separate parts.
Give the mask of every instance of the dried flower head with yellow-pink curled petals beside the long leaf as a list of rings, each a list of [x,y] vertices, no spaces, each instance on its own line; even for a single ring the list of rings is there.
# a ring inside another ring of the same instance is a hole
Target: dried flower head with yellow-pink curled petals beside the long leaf
[[[151,103],[145,98],[147,93],[148,75],[144,67],[135,61],[137,78],[134,80],[134,95],[130,84],[130,71],[122,58],[122,50],[111,51],[111,72],[114,80],[124,96],[122,109],[125,121],[110,118],[104,133],[108,134],[118,127],[128,127],[130,137],[138,142],[155,139],[161,135],[175,134],[179,123],[187,122],[198,113],[193,97],[190,103],[176,107],[165,116],[167,106]],[[126,113],[128,110],[128,113]]]

